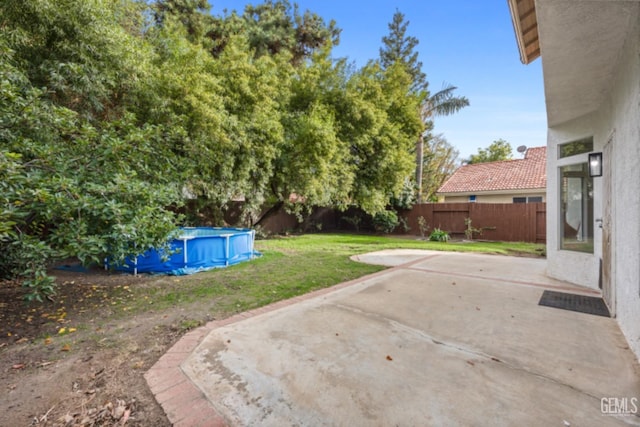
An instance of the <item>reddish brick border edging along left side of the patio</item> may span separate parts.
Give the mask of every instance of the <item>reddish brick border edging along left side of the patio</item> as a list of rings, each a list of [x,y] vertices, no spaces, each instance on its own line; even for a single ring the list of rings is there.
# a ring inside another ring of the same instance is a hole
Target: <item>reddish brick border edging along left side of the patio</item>
[[[428,258],[428,257],[425,257]],[[234,314],[220,320],[212,320],[182,336],[158,361],[144,374],[153,396],[164,410],[174,427],[226,427],[227,421],[216,411],[205,394],[182,371],[180,365],[200,345],[202,340],[214,329],[227,326],[250,317],[269,313],[292,304],[326,295],[356,283],[388,274],[391,271],[413,264],[415,261],[387,268],[357,279],[338,283],[328,288],[274,302],[272,304]]]

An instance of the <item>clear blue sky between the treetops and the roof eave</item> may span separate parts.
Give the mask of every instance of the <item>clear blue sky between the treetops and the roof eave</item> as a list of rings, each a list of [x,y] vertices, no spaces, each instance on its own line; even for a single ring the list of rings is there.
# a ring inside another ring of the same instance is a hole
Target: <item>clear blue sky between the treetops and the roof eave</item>
[[[242,11],[261,1],[209,0],[213,14]],[[422,71],[432,92],[443,83],[458,87],[470,106],[454,116],[438,117],[435,133],[461,158],[505,139],[513,147],[546,145],[546,113],[540,60],[520,63],[506,0],[299,0],[302,10],[334,19],[342,29],[335,57],[360,67],[377,59],[382,37],[396,8],[416,37]]]

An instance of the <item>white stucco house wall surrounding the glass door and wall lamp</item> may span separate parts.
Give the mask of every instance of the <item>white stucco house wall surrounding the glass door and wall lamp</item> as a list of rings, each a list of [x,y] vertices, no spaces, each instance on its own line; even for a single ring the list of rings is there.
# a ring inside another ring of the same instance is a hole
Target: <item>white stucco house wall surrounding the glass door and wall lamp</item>
[[[587,154],[558,159],[558,144],[593,136],[594,151],[604,151],[610,139],[611,272],[615,315],[636,355],[640,356],[640,13],[618,55],[610,90],[600,107],[548,131],[547,259],[548,274],[598,288],[602,230],[594,227],[594,253],[560,250],[559,167],[586,161]],[[543,50],[544,60],[544,50]],[[603,178],[594,178],[594,219],[602,218]]]

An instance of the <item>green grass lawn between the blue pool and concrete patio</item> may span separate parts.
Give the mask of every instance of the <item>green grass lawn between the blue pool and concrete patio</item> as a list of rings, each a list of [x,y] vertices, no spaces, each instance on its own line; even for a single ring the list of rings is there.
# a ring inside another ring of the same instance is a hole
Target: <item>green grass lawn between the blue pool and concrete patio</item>
[[[261,307],[371,274],[385,267],[351,261],[350,256],[382,249],[409,248],[541,256],[544,245],[511,242],[428,242],[411,238],[352,234],[306,234],[256,241],[263,256],[251,262],[192,276],[166,277],[140,289],[138,310],[203,301],[218,315]]]

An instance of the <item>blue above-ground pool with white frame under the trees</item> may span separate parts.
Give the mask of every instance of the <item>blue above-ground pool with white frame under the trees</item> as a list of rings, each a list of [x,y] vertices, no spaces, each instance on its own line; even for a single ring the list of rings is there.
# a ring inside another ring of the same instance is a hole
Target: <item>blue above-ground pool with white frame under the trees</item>
[[[253,249],[255,231],[246,228],[185,227],[171,243],[171,255],[150,249],[127,260],[119,270],[130,273],[191,274],[247,261],[258,255]]]

